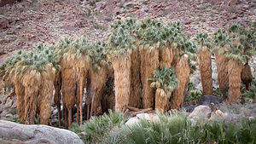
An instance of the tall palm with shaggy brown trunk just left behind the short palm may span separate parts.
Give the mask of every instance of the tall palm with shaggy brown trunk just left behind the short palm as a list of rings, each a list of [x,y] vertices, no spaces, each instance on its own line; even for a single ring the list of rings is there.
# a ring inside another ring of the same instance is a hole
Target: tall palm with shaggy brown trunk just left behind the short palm
[[[151,19],[142,20],[138,27],[143,108],[154,107],[154,89],[150,87],[148,78],[152,78],[154,70],[159,68],[159,49],[166,49],[166,41],[163,38],[164,28],[160,21]]]

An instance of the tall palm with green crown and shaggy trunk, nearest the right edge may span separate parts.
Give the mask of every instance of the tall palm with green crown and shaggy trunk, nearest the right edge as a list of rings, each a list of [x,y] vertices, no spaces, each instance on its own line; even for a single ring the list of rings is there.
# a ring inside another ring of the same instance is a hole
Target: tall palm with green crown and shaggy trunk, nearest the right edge
[[[247,45],[243,44],[247,41],[247,35],[243,27],[239,25],[231,25],[228,30],[230,35],[230,49],[224,52],[229,57],[229,102],[240,102],[241,98],[241,72],[243,70],[242,62],[246,62],[253,54],[255,49],[245,49]]]

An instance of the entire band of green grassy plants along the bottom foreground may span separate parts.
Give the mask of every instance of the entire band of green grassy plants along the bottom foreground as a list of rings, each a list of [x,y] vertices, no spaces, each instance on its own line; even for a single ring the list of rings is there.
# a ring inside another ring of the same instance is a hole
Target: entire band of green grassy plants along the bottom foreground
[[[223,120],[193,124],[183,113],[159,113],[159,120],[145,119],[132,126],[125,125],[121,113],[110,112],[92,118],[82,128],[73,124],[72,130],[84,143],[253,143],[255,119],[227,123]]]

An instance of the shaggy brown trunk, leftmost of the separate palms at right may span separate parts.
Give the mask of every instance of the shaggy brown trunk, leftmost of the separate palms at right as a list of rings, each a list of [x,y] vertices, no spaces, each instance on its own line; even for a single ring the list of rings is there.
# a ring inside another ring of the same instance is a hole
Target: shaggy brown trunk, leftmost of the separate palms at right
[[[212,56],[206,46],[199,50],[199,60],[203,95],[212,95]]]

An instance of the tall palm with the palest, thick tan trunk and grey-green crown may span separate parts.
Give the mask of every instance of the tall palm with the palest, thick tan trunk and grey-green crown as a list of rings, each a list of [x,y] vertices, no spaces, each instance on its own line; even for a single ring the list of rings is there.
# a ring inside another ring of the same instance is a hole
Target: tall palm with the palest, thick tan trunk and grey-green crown
[[[137,49],[135,29],[135,20],[117,21],[112,25],[112,34],[108,37],[108,55],[113,61],[114,70],[115,111],[125,111],[130,101],[131,52]]]

